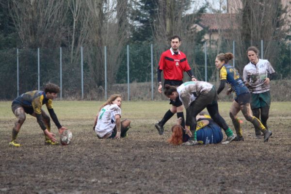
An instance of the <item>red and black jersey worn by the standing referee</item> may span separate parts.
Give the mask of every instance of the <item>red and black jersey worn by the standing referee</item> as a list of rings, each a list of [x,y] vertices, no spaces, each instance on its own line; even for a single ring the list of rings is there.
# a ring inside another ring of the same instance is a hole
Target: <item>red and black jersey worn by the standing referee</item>
[[[178,51],[178,54],[175,54],[172,48],[162,53],[159,66],[160,69],[163,70],[165,80],[182,81],[183,71],[191,69],[186,55],[181,51]]]

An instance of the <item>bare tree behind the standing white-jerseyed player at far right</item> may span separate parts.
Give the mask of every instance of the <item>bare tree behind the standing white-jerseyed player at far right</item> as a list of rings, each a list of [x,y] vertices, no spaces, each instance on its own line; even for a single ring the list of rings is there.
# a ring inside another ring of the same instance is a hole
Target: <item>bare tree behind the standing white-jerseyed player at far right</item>
[[[232,0],[237,7],[238,29],[232,31],[232,38],[236,42],[236,58],[241,62],[238,67],[242,70],[247,63],[245,50],[249,46],[260,48],[260,40],[264,41],[264,58],[275,65],[275,58],[282,40],[289,32],[286,26],[290,21],[290,4],[282,5],[280,0]],[[232,10],[234,10],[232,8]]]

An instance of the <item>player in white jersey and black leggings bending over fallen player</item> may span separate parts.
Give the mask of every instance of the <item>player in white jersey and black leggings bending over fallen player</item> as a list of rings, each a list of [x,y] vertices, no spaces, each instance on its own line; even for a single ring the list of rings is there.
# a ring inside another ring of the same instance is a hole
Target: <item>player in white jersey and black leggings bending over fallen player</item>
[[[170,99],[179,97],[186,108],[185,129],[190,138],[183,145],[191,146],[198,144],[196,136],[196,116],[205,108],[211,118],[225,130],[227,138],[223,144],[228,144],[235,138],[232,130],[227,126],[226,121],[218,112],[217,93],[212,84],[205,81],[188,81],[178,88],[166,84],[164,95]]]

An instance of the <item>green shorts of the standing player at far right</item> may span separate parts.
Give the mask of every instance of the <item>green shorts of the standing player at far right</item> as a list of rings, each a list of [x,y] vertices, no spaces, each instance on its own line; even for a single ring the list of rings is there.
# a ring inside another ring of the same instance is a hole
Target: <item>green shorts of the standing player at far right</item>
[[[251,109],[258,109],[265,106],[271,105],[271,94],[270,91],[263,92],[260,94],[252,93]]]

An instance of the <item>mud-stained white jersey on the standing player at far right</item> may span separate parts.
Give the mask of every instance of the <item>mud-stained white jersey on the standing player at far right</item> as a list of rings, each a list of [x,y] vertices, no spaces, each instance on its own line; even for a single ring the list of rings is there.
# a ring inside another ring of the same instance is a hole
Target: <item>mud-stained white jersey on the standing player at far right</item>
[[[264,80],[268,74],[275,73],[272,65],[268,60],[259,59],[259,62],[254,65],[251,62],[243,68],[243,81],[249,83],[251,93],[259,94],[270,90],[270,83],[264,84]]]

